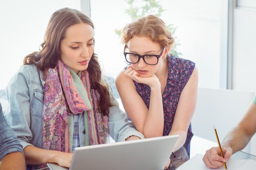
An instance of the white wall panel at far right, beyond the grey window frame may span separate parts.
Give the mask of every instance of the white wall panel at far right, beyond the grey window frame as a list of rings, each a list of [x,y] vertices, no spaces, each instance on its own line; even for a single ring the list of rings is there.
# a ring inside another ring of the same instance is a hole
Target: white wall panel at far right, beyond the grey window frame
[[[233,40],[232,87],[256,91],[256,7],[236,7]]]

